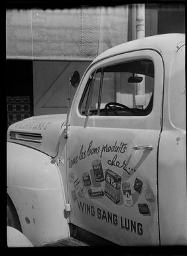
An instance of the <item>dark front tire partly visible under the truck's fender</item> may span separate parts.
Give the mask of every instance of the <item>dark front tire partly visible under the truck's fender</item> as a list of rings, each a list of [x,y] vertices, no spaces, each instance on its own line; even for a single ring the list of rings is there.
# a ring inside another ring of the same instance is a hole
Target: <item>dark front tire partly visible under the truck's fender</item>
[[[14,227],[15,229],[18,229],[22,232],[17,211],[9,197],[7,197],[7,225]]]

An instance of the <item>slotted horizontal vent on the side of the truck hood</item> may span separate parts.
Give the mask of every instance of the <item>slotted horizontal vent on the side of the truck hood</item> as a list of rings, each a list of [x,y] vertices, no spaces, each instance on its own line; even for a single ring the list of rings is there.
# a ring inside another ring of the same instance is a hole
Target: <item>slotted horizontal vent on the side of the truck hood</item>
[[[42,134],[35,134],[32,132],[10,132],[11,140],[21,140],[25,142],[42,143]]]

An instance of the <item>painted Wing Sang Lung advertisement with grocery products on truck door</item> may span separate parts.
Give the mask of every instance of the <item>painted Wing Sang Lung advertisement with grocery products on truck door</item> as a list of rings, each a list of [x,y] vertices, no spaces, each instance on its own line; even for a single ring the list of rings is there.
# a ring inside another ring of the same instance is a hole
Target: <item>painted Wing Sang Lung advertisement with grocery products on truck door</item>
[[[149,169],[149,154],[133,150],[133,140],[80,144],[67,163],[72,221],[121,245],[155,241],[156,168]]]

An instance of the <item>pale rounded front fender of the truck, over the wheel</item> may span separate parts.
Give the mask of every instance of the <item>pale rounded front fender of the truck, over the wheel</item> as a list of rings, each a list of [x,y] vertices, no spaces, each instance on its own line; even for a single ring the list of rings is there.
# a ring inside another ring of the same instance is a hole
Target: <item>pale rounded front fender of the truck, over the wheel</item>
[[[33,245],[70,235],[62,186],[60,171],[50,156],[7,142],[7,193],[17,209],[23,234]]]

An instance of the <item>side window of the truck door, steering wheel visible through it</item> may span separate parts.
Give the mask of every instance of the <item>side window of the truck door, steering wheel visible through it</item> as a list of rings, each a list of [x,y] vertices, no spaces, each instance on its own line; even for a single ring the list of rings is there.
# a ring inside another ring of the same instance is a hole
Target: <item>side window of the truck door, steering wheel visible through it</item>
[[[97,116],[145,116],[153,108],[153,89],[151,60],[103,66],[93,72],[80,103],[80,112]]]

